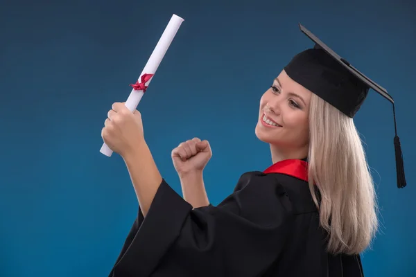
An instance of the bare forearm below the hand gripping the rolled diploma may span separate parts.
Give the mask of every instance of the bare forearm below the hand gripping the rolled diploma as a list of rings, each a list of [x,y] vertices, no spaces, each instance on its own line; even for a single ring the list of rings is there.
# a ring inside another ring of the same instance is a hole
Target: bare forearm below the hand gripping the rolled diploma
[[[138,145],[134,151],[125,154],[123,159],[135,188],[141,213],[146,217],[157,189],[162,183],[162,176],[146,142]]]

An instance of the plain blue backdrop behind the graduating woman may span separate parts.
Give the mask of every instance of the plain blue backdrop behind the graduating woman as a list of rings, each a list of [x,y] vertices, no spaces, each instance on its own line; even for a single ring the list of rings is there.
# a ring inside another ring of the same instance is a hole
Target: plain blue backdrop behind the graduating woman
[[[270,165],[254,135],[261,94],[313,46],[301,22],[395,98],[408,186],[396,186],[392,106],[374,91],[355,122],[381,229],[366,276],[416,276],[416,8],[411,1],[0,1],[0,276],[107,276],[137,213],[119,155],[99,152],[172,14],[185,19],[140,102],[145,136],[178,193],[171,150],[211,143],[207,192]]]

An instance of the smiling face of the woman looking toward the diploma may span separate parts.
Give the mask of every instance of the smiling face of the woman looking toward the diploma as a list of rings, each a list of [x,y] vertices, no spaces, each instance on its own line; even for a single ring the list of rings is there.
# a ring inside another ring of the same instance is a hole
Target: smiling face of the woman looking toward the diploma
[[[307,149],[310,99],[311,91],[282,71],[261,97],[257,138],[286,150]]]

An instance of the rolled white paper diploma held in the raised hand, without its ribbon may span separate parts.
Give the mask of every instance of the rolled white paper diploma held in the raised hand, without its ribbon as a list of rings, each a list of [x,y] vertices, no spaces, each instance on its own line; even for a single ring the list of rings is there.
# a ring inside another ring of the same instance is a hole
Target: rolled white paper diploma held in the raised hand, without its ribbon
[[[155,49],[153,50],[152,55],[150,55],[148,62],[144,66],[143,71],[141,71],[141,74],[139,76],[139,82],[141,82],[141,76],[144,74],[155,74],[157,71],[157,68],[159,67],[160,62],[162,62],[162,59],[168,51],[169,46],[171,45],[171,42],[173,41],[173,37],[175,37],[177,30],[179,30],[180,25],[184,19],[181,17],[178,17],[177,15],[172,15],[171,20],[168,23],[168,26],[166,26],[164,32],[162,33],[162,36],[159,39],[159,42],[157,42]],[[148,84],[150,84],[150,81],[153,79],[150,78],[146,82],[146,87]],[[130,109],[130,111],[134,111],[137,108],[137,105],[139,105],[139,102],[141,98],[144,95],[143,90],[135,90],[134,88],[130,92],[130,95],[128,96],[127,100],[125,101],[125,106]],[[103,143],[103,146],[100,150],[101,153],[105,154],[107,157],[111,157],[112,150]]]

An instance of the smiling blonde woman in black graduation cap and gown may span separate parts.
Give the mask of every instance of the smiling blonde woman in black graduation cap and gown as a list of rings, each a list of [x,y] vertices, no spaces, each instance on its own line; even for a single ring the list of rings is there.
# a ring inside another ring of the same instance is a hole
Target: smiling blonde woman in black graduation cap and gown
[[[376,202],[352,117],[369,84],[301,30],[318,45],[296,55],[260,101],[256,134],[273,164],[243,174],[218,206],[202,180],[207,141],[172,152],[182,199],[157,170],[139,111],[114,103],[102,136],[126,163],[139,213],[110,276],[363,276]]]

